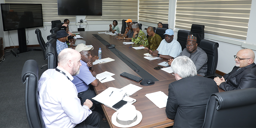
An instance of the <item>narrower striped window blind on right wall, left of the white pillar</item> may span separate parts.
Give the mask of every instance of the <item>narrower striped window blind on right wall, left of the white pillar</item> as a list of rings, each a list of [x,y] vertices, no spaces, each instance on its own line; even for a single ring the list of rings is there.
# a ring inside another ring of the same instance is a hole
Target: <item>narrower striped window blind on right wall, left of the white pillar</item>
[[[139,21],[168,24],[169,0],[139,0]]]

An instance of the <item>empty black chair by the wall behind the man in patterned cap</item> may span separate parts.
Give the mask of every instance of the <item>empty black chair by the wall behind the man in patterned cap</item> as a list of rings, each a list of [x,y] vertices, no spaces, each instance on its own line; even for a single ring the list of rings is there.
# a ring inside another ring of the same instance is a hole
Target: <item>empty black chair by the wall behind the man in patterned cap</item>
[[[192,24],[190,31],[193,32],[193,35],[197,39],[197,46],[200,46],[201,40],[204,39],[204,25]]]

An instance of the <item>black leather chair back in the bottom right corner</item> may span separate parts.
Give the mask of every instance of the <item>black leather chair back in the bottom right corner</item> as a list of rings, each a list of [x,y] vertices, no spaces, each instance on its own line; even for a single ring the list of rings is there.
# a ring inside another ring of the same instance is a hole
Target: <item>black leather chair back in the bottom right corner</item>
[[[206,106],[203,128],[256,126],[256,88],[214,93]]]

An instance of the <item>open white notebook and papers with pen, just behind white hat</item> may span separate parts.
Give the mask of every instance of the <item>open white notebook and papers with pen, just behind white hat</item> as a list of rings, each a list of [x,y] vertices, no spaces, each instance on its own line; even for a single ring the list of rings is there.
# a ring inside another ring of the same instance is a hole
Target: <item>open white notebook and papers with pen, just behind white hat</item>
[[[117,111],[117,109],[113,108],[112,106],[122,100],[124,95],[125,94],[120,92],[120,89],[109,87],[92,99],[104,104],[106,107]],[[127,104],[133,104],[134,102],[136,102],[136,99],[128,97],[127,95],[124,97],[123,100],[127,101]]]

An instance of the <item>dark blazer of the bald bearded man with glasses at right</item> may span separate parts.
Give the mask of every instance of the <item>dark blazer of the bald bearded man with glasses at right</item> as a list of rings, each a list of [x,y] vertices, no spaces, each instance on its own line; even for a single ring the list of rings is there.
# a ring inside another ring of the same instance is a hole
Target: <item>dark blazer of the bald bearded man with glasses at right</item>
[[[226,82],[222,82],[219,88],[224,91],[256,88],[256,65],[255,63],[245,66],[238,71],[239,67],[234,66],[232,71],[223,77]]]

